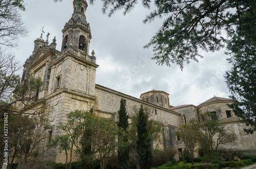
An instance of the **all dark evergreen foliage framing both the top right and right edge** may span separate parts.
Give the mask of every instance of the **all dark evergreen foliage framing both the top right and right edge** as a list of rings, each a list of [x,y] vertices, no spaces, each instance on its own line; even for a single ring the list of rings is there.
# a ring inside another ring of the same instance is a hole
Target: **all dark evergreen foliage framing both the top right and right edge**
[[[61,0],[54,0],[55,2]],[[93,4],[96,0],[90,0]],[[102,12],[112,16],[117,10],[125,15],[138,0],[101,0]],[[236,101],[230,107],[243,122],[255,127],[255,32],[256,2],[251,0],[142,0],[143,7],[156,7],[146,15],[144,23],[164,18],[158,32],[144,48],[153,46],[154,57],[159,65],[176,63],[181,69],[184,63],[197,61],[199,50],[215,52],[225,44],[231,56],[232,69],[226,74],[231,98]],[[227,34],[227,36],[226,36]]]

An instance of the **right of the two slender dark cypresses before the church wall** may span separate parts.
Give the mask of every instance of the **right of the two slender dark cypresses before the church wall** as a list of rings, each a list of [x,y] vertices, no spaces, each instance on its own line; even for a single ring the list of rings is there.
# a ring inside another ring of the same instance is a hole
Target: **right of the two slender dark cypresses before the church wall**
[[[153,156],[151,152],[150,136],[147,131],[147,115],[143,111],[143,107],[140,107],[138,124],[137,124],[137,152],[139,159],[140,169],[150,169]]]

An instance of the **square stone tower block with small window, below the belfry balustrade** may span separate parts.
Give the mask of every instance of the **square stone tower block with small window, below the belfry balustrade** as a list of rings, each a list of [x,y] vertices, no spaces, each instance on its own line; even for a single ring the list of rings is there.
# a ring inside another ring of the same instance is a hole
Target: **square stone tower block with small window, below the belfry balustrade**
[[[66,53],[51,64],[49,94],[57,88],[67,88],[94,95],[97,65],[90,65],[75,55]],[[57,85],[59,81],[59,86]]]

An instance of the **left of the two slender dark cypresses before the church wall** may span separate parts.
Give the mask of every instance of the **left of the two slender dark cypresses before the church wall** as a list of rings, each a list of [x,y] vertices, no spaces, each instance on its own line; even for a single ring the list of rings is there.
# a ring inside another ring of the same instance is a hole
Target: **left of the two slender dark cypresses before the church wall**
[[[118,168],[129,168],[129,138],[127,134],[127,129],[129,126],[128,115],[124,105],[123,99],[120,101],[120,109],[118,111],[119,120],[117,122],[117,126],[122,130],[118,134],[118,141],[122,141],[122,146],[118,148]]]

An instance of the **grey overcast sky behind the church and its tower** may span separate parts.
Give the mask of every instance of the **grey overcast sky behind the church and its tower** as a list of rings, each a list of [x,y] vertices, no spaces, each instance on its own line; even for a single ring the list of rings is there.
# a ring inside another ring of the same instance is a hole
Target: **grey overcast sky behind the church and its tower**
[[[49,43],[56,36],[56,49],[60,51],[63,26],[73,13],[73,0],[54,3],[53,0],[25,0],[26,11],[21,12],[28,36],[19,39],[18,49],[12,49],[22,64],[32,54],[34,40],[44,27],[49,32]],[[92,39],[90,51],[95,51],[96,84],[139,98],[140,94],[152,89],[169,93],[170,105],[199,105],[214,95],[228,98],[229,91],[224,82],[225,71],[230,65],[224,50],[215,53],[202,52],[199,63],[167,67],[157,65],[152,48],[143,49],[162,25],[162,19],[144,25],[142,20],[150,10],[138,4],[125,16],[122,11],[111,18],[101,12],[101,1],[89,4],[86,17],[90,23]]]

